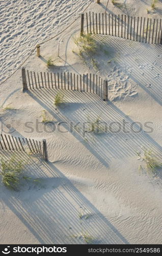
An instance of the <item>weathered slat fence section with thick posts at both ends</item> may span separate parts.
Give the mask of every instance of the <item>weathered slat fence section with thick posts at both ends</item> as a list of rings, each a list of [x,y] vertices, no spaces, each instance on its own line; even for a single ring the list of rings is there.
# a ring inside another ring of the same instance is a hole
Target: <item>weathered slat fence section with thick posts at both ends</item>
[[[61,89],[94,93],[108,100],[108,82],[95,74],[33,72],[22,68],[22,86],[25,90]]]

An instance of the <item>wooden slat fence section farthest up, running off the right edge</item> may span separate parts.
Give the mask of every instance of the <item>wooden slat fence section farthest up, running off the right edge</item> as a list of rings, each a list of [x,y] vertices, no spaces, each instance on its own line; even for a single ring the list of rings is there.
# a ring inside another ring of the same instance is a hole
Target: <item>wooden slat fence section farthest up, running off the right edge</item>
[[[80,34],[112,35],[148,44],[162,44],[161,19],[107,13],[83,13]]]

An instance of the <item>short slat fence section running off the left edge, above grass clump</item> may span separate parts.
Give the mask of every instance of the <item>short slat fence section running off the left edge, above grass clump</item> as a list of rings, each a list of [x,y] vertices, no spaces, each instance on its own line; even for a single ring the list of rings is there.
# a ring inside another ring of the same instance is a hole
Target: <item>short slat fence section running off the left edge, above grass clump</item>
[[[1,134],[0,136],[0,149],[7,151],[22,151],[30,150],[31,153],[43,157],[48,160],[46,140],[37,141],[34,139],[13,137],[12,135]]]

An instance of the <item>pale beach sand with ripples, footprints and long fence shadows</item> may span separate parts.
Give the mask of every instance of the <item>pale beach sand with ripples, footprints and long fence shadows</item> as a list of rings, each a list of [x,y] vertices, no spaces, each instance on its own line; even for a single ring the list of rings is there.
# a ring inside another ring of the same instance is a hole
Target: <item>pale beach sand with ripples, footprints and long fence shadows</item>
[[[2,1],[4,30],[20,13],[12,33],[6,30],[5,36],[3,32],[2,81],[28,56],[30,49],[64,29],[90,3],[36,2],[21,1],[20,9],[17,1],[12,1],[14,9],[8,1]],[[115,14],[158,18],[162,8],[159,2],[156,12],[148,15],[146,8],[151,1],[125,1],[127,8],[122,10],[109,2],[107,11]],[[88,11],[102,12],[106,3],[103,0],[98,6],[94,1]],[[21,30],[24,35],[18,34]],[[41,57],[34,52],[23,66],[31,71],[96,73],[109,81],[108,102],[88,93],[64,92],[65,103],[56,110],[55,90],[22,93],[21,69],[0,87],[2,108],[9,104],[13,108],[1,109],[1,130],[10,132],[6,125],[12,123],[14,136],[45,138],[49,157],[46,163],[25,155],[30,163],[25,173],[41,179],[39,184],[24,182],[19,191],[1,186],[0,242],[86,244],[83,237],[87,233],[98,244],[161,244],[161,169],[155,177],[142,174],[139,166],[143,162],[137,156],[137,152],[143,154],[149,149],[161,159],[161,47],[98,35],[97,44],[110,54],[100,50],[95,56],[98,70],[94,70],[72,52],[72,36],[78,31],[79,20],[61,36],[41,45]],[[7,37],[11,39],[11,51]],[[55,67],[48,69],[45,60],[50,56]],[[115,60],[109,62],[112,58]],[[124,119],[128,131],[133,122],[140,122],[143,129],[136,133],[137,124],[135,132],[85,133],[84,137],[76,131],[70,133],[68,125],[61,127],[64,133],[51,133],[50,127],[45,132],[41,123],[42,132],[38,133],[36,119],[41,121],[42,110],[49,113],[56,126],[60,121],[76,123],[87,121],[88,116],[91,120],[99,116],[107,123],[122,124]],[[24,127],[26,121],[33,122],[31,134]],[[146,122],[152,122],[151,133]],[[8,154],[1,152],[5,158]]]

